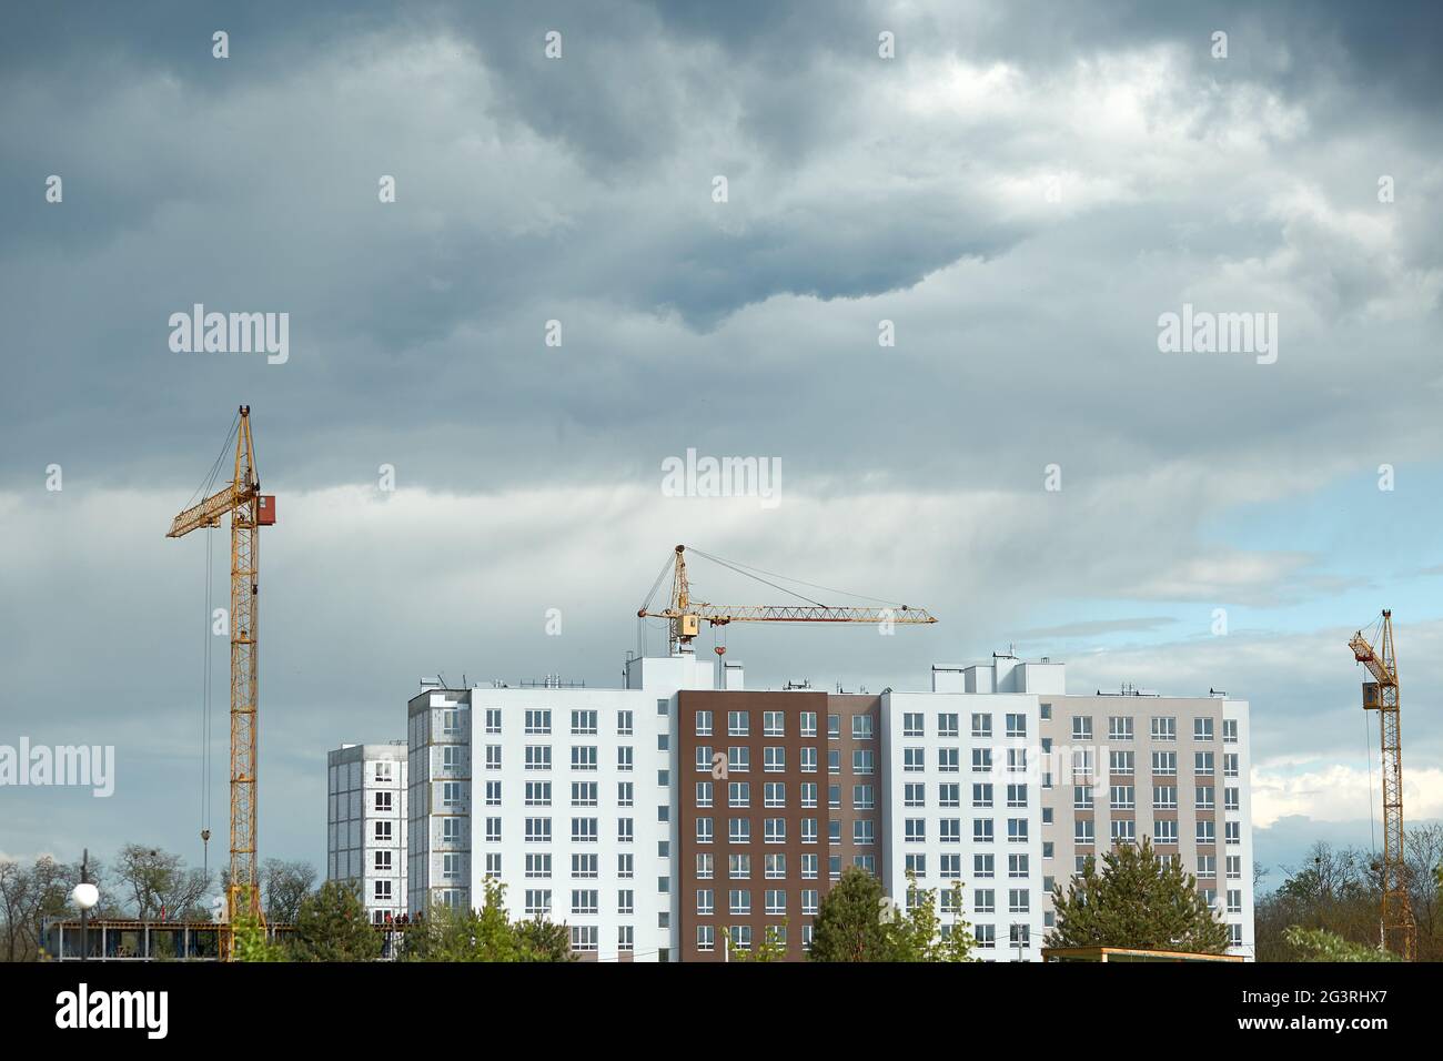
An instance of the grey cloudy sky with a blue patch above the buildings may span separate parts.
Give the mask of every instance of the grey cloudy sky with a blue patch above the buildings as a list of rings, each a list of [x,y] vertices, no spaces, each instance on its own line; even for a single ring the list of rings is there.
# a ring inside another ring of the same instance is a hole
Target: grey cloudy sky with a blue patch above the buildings
[[[1074,691],[1248,699],[1270,863],[1369,843],[1346,638],[1392,608],[1405,808],[1443,817],[1440,38],[1351,3],[7,13],[0,743],[117,780],[0,790],[0,853],[199,862],[206,543],[163,534],[242,401],[266,856],[322,862],[326,751],[401,738],[423,676],[613,684],[678,541],[942,619],[736,626],[752,687],[1016,644]],[[289,359],[175,352],[195,303],[289,313]],[[1276,313],[1276,362],[1160,352],[1185,305]],[[667,495],[688,449],[779,462],[779,504]]]

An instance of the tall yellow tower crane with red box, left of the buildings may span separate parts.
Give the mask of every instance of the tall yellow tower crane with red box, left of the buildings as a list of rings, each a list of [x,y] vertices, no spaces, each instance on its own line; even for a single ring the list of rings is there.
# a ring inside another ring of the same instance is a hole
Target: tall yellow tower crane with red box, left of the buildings
[[[258,528],[276,523],[276,498],[261,494],[251,440],[251,407],[241,406],[235,433],[235,473],[216,491],[177,515],[167,538],[219,527],[231,514],[231,879],[227,888],[228,924],[234,924],[241,894],[251,914],[264,920],[255,857],[257,670],[258,642]],[[231,933],[221,933],[221,957],[232,957]]]

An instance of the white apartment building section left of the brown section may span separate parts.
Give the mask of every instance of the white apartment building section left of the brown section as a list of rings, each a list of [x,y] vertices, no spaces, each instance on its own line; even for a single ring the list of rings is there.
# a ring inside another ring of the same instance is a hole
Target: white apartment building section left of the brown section
[[[625,689],[426,690],[408,707],[410,912],[485,901],[564,921],[597,960],[670,960],[675,694],[713,689],[691,655],[628,661]]]

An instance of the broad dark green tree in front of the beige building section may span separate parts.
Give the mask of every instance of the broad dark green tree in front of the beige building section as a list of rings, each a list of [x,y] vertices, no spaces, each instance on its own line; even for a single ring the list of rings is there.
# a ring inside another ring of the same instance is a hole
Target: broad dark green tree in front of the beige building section
[[[1198,892],[1196,881],[1173,859],[1159,859],[1152,843],[1118,844],[1088,857],[1068,894],[1053,891],[1056,927],[1049,947],[1136,947],[1222,954],[1228,927]]]

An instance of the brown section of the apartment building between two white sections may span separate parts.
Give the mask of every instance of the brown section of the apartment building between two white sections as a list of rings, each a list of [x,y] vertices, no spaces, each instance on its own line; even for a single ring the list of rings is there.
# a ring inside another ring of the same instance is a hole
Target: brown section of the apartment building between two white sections
[[[879,697],[810,690],[677,696],[683,961],[766,937],[801,960],[844,866],[877,872]]]

